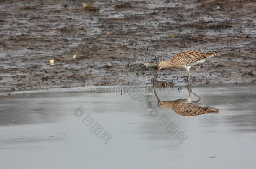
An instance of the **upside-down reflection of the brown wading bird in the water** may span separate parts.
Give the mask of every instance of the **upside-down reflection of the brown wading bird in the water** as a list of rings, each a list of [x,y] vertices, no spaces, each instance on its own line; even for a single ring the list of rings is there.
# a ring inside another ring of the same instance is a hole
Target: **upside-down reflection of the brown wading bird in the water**
[[[157,96],[155,89],[154,89],[154,93],[157,98],[159,108],[171,108],[173,111],[175,111],[175,113],[180,114],[182,116],[199,116],[201,114],[206,114],[206,113],[218,113],[220,110],[220,109],[209,107],[199,103],[199,101],[201,100],[201,97],[193,93],[190,86],[188,86],[187,99],[161,101]],[[191,93],[193,93],[196,97],[198,97],[197,101],[191,100]]]

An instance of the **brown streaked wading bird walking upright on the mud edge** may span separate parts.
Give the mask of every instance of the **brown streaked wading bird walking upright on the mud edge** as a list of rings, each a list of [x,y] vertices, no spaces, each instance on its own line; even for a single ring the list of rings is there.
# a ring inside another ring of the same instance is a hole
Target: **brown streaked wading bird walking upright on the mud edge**
[[[189,69],[191,68],[191,66],[203,63],[204,61],[206,61],[207,58],[212,56],[219,56],[219,54],[216,54],[214,52],[196,52],[192,50],[180,52],[174,55],[168,61],[159,61],[159,63],[157,64],[157,73],[159,73],[159,70],[161,69],[186,68],[188,70],[187,82],[189,83],[191,74],[200,68],[199,66],[193,72],[190,72]]]

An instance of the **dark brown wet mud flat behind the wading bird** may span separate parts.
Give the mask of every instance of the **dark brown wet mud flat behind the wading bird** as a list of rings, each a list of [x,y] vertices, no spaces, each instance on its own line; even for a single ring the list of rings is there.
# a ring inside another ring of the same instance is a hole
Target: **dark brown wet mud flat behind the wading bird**
[[[82,2],[0,2],[1,90],[147,85],[155,68],[143,63],[183,50],[220,54],[201,65],[193,84],[256,79],[255,0],[86,1],[97,11]],[[186,75],[173,68],[157,79],[179,85]]]

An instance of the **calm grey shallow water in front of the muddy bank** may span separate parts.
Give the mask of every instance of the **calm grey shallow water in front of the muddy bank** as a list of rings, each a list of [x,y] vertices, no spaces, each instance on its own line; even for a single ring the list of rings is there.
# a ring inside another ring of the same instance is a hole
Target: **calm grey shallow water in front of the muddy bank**
[[[0,96],[0,168],[256,168],[255,87],[191,87],[199,103],[220,109],[193,117],[159,108],[150,87]],[[162,101],[188,98],[181,88],[157,93]],[[168,133],[168,125],[175,130]]]

